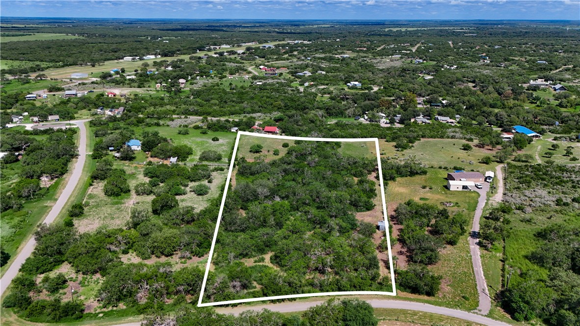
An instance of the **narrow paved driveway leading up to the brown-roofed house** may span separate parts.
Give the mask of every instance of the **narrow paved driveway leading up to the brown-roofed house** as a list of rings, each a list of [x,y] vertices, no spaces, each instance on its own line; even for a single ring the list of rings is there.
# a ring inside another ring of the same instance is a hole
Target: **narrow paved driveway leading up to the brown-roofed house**
[[[482,184],[483,189],[476,189],[479,193],[479,200],[477,201],[477,208],[475,210],[475,216],[473,217],[471,236],[469,237],[469,250],[472,255],[473,271],[477,283],[477,292],[479,293],[479,306],[475,311],[486,315],[491,309],[491,298],[490,293],[487,291],[487,283],[485,282],[485,276],[483,275],[483,267],[481,267],[481,257],[479,255],[477,241],[479,238],[479,220],[483,213],[485,200],[487,200],[487,191],[490,189],[490,184],[487,182]]]

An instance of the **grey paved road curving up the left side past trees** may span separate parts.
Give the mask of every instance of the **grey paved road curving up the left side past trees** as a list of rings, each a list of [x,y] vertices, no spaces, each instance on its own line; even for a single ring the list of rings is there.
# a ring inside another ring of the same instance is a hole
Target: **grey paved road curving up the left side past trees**
[[[73,167],[73,173],[71,174],[70,178],[68,178],[68,183],[66,187],[64,187],[63,193],[60,194],[59,199],[56,201],[56,204],[52,207],[52,209],[50,209],[48,215],[46,215],[46,218],[44,219],[44,223],[46,224],[50,224],[52,223],[53,220],[56,219],[56,216],[59,215],[60,211],[64,207],[64,204],[66,204],[68,198],[73,193],[73,190],[77,186],[77,183],[79,182],[79,180],[81,180],[82,167],[85,165],[86,160],[86,128],[84,125],[85,121],[88,120],[71,121],[71,123],[75,123],[78,125],[78,128],[81,132],[80,138],[81,141],[79,142],[78,148],[78,160],[77,164],[75,164]],[[16,276],[16,274],[18,274],[18,270],[20,269],[20,266],[24,263],[24,260],[26,260],[31,255],[32,251],[34,251],[35,245],[36,241],[34,240],[34,237],[31,237],[30,240],[26,242],[26,245],[24,245],[24,248],[18,253],[16,259],[13,260],[12,265],[8,267],[8,270],[6,270],[6,273],[4,274],[4,276],[2,276],[2,279],[0,279],[0,295],[4,294],[4,291],[6,291],[6,288],[8,288],[8,285],[10,285],[12,279]]]

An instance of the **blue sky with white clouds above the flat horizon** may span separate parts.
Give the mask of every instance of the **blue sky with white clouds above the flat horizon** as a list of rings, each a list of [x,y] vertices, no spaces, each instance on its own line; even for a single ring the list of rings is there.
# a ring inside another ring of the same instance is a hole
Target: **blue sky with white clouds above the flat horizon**
[[[580,20],[580,0],[1,0],[2,17]]]

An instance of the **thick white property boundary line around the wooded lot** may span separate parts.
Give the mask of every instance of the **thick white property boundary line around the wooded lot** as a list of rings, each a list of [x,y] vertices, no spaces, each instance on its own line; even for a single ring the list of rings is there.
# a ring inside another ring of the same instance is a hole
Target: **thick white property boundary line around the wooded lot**
[[[310,142],[375,142],[376,146],[376,160],[378,161],[379,168],[379,182],[380,182],[380,195],[383,200],[383,220],[385,221],[385,235],[387,237],[387,247],[389,249],[389,267],[391,271],[391,284],[393,285],[393,292],[382,292],[382,291],[347,291],[347,292],[322,292],[322,293],[312,293],[312,294],[292,294],[292,295],[277,295],[277,296],[265,296],[263,298],[249,298],[249,299],[238,299],[229,301],[219,301],[219,302],[208,302],[202,303],[204,298],[205,284],[208,281],[209,266],[211,265],[213,249],[216,245],[216,239],[218,238],[219,223],[222,220],[223,207],[226,204],[227,189],[230,186],[231,172],[234,169],[235,154],[238,150],[238,143],[240,143],[240,136],[255,136],[264,138],[278,138],[278,139],[288,139],[288,140],[306,140]],[[264,300],[278,300],[278,299],[291,299],[291,298],[307,298],[310,296],[328,296],[328,295],[397,295],[397,290],[395,288],[395,274],[393,270],[393,254],[391,253],[391,239],[389,234],[389,223],[387,222],[387,205],[385,200],[385,187],[383,186],[383,169],[380,165],[380,150],[379,150],[379,139],[378,138],[310,138],[310,137],[289,137],[289,136],[278,136],[278,135],[265,135],[261,133],[252,132],[238,132],[237,137],[235,137],[234,153],[231,157],[230,171],[227,173],[226,179],[226,189],[223,191],[222,205],[219,208],[218,222],[216,223],[216,228],[213,231],[212,248],[209,250],[208,265],[205,267],[204,281],[201,284],[200,300],[197,303],[198,307],[208,307],[208,306],[219,306],[219,305],[229,305],[231,303],[244,303],[244,302],[254,302],[254,301],[264,301]]]

